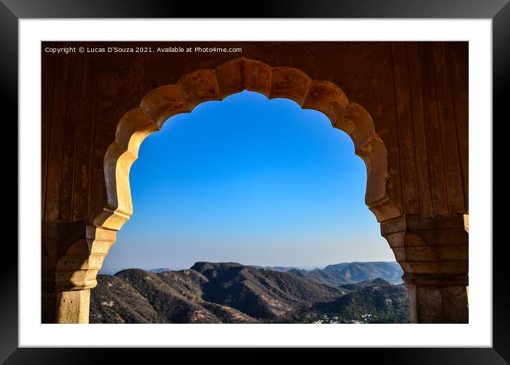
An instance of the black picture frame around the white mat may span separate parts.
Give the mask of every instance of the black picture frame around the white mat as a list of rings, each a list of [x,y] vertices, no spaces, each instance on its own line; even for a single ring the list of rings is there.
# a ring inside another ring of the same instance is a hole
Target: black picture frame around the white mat
[[[358,0],[358,1],[257,1],[250,11],[238,2],[201,2],[162,0],[0,0],[0,77],[1,106],[4,127],[4,257],[0,275],[0,361],[4,364],[106,364],[150,356],[193,356],[194,361],[225,356],[225,349],[43,349],[19,348],[18,344],[18,250],[17,237],[18,196],[18,26],[21,18],[489,18],[493,31],[493,120],[487,127],[501,129],[507,122],[506,105],[510,100],[510,4],[509,0]],[[476,102],[476,100],[469,100]],[[471,121],[482,122],[482,121]],[[7,131],[6,129],[7,128]],[[19,137],[19,136],[18,136]],[[333,356],[355,355],[361,362],[369,359],[377,364],[509,364],[510,362],[510,275],[506,270],[505,246],[508,230],[505,220],[510,213],[504,209],[510,200],[510,184],[506,177],[506,134],[493,129],[493,347],[491,348],[372,348],[321,349],[322,356],[335,351]],[[506,143],[507,144],[507,143]],[[8,193],[6,193],[8,192]],[[476,192],[472,192],[476,194]],[[16,208],[14,208],[16,207]],[[14,217],[16,216],[16,228]],[[475,245],[489,244],[475,242]],[[246,352],[250,352],[247,356]],[[244,354],[242,354],[244,352]],[[239,361],[254,363],[266,361],[264,351],[241,349]],[[301,357],[303,349],[292,349],[293,356]],[[175,357],[177,359],[177,357]],[[340,361],[340,359],[339,359]]]

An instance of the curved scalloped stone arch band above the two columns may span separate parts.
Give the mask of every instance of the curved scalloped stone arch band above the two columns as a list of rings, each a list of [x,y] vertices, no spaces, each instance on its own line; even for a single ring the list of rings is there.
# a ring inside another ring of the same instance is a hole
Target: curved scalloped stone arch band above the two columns
[[[188,73],[175,85],[151,90],[142,98],[140,107],[120,119],[115,142],[108,147],[104,159],[107,201],[93,225],[118,231],[132,215],[129,172],[138,157],[140,144],[148,135],[160,130],[173,115],[191,112],[202,102],[223,100],[243,90],[260,92],[269,99],[284,97],[303,109],[323,112],[333,127],[349,134],[355,154],[365,162],[365,203],[377,220],[387,221],[401,215],[400,208],[387,196],[386,147],[363,107],[350,102],[338,85],[312,80],[296,68],[272,68],[261,61],[238,58],[214,70]]]

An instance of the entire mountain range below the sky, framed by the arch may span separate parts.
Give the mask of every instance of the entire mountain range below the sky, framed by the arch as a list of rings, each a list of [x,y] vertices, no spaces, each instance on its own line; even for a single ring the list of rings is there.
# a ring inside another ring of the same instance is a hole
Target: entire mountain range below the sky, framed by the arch
[[[303,273],[307,270],[283,272],[239,263],[199,262],[189,270],[160,273],[121,270],[98,275],[90,296],[90,323],[304,323],[324,313],[350,321],[365,312],[377,314],[382,322],[408,322],[405,286],[373,280],[368,268],[394,275],[380,265],[361,270],[363,264],[373,263],[323,269],[329,268],[327,277],[336,282],[348,275],[366,277],[343,286]]]

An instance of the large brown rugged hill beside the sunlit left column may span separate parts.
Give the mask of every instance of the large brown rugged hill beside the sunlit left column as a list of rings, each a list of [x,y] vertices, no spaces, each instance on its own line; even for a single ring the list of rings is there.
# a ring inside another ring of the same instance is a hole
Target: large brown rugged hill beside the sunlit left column
[[[122,270],[98,275],[90,323],[296,322],[316,302],[347,290],[238,263],[196,263],[190,270]]]

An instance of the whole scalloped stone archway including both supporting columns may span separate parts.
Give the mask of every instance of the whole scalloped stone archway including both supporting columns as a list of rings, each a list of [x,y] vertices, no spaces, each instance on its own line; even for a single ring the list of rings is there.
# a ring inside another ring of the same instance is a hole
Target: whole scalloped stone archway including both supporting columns
[[[82,221],[69,228],[77,232],[76,236],[61,234],[58,225],[46,230],[46,240],[52,240],[53,235],[68,236],[70,240],[63,245],[66,250],[62,253],[46,252],[45,247],[51,245],[43,246],[43,282],[51,283],[53,290],[43,295],[48,318],[56,313],[56,322],[88,322],[90,289],[97,285],[95,277],[115,243],[117,231],[132,214],[130,167],[143,140],[173,115],[192,112],[202,102],[223,100],[243,90],[260,92],[270,99],[291,99],[304,109],[323,112],[333,127],[351,137],[355,153],[367,167],[365,203],[381,223],[381,233],[410,287],[412,322],[467,322],[468,244],[463,217],[402,213],[401,206],[387,194],[395,176],[388,171],[387,149],[368,112],[350,102],[338,85],[312,80],[296,68],[272,68],[247,58],[187,73],[175,85],[151,90],[139,107],[123,115],[115,141],[104,157],[107,201],[103,211],[91,224]],[[44,263],[45,257],[57,256],[56,263]]]

